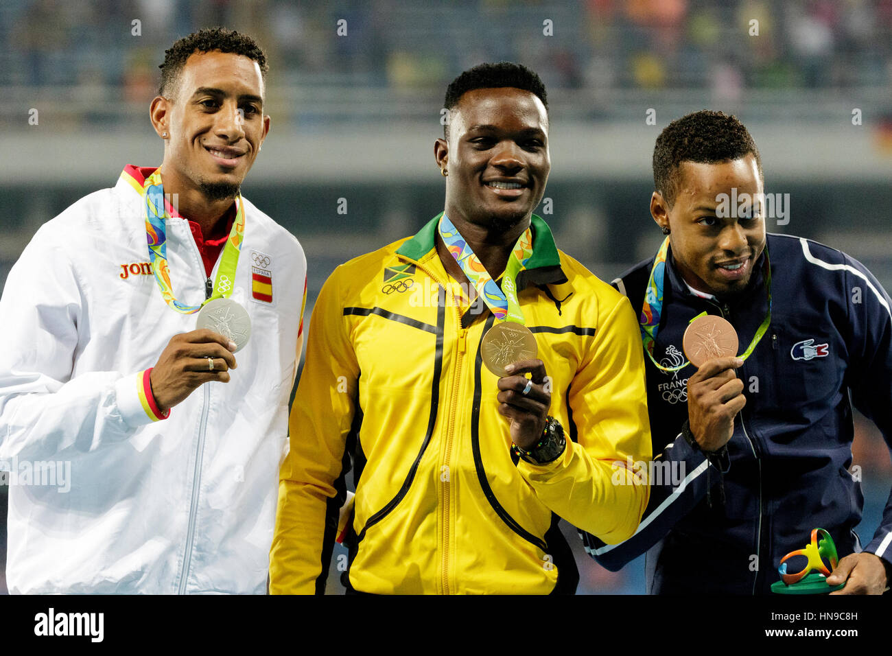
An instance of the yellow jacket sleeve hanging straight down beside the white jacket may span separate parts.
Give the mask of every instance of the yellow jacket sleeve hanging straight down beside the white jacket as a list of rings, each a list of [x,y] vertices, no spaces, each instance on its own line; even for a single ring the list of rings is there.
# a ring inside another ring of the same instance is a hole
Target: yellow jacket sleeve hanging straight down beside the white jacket
[[[359,378],[338,276],[335,270],[322,286],[310,319],[307,357],[289,419],[291,448],[279,475],[270,594],[325,591]]]

